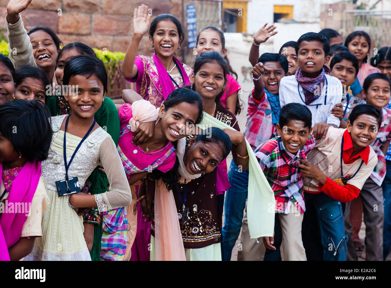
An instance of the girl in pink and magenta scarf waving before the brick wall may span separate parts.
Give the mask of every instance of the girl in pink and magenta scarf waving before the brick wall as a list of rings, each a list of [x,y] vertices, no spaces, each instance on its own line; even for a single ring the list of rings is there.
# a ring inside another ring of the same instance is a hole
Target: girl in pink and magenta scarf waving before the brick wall
[[[185,38],[178,19],[170,14],[161,14],[152,20],[149,27],[150,18],[147,6],[135,9],[133,37],[122,64],[122,74],[127,81],[136,82],[138,94],[158,107],[174,89],[190,85],[192,69],[174,56]],[[154,54],[136,56],[141,39],[148,30]]]

